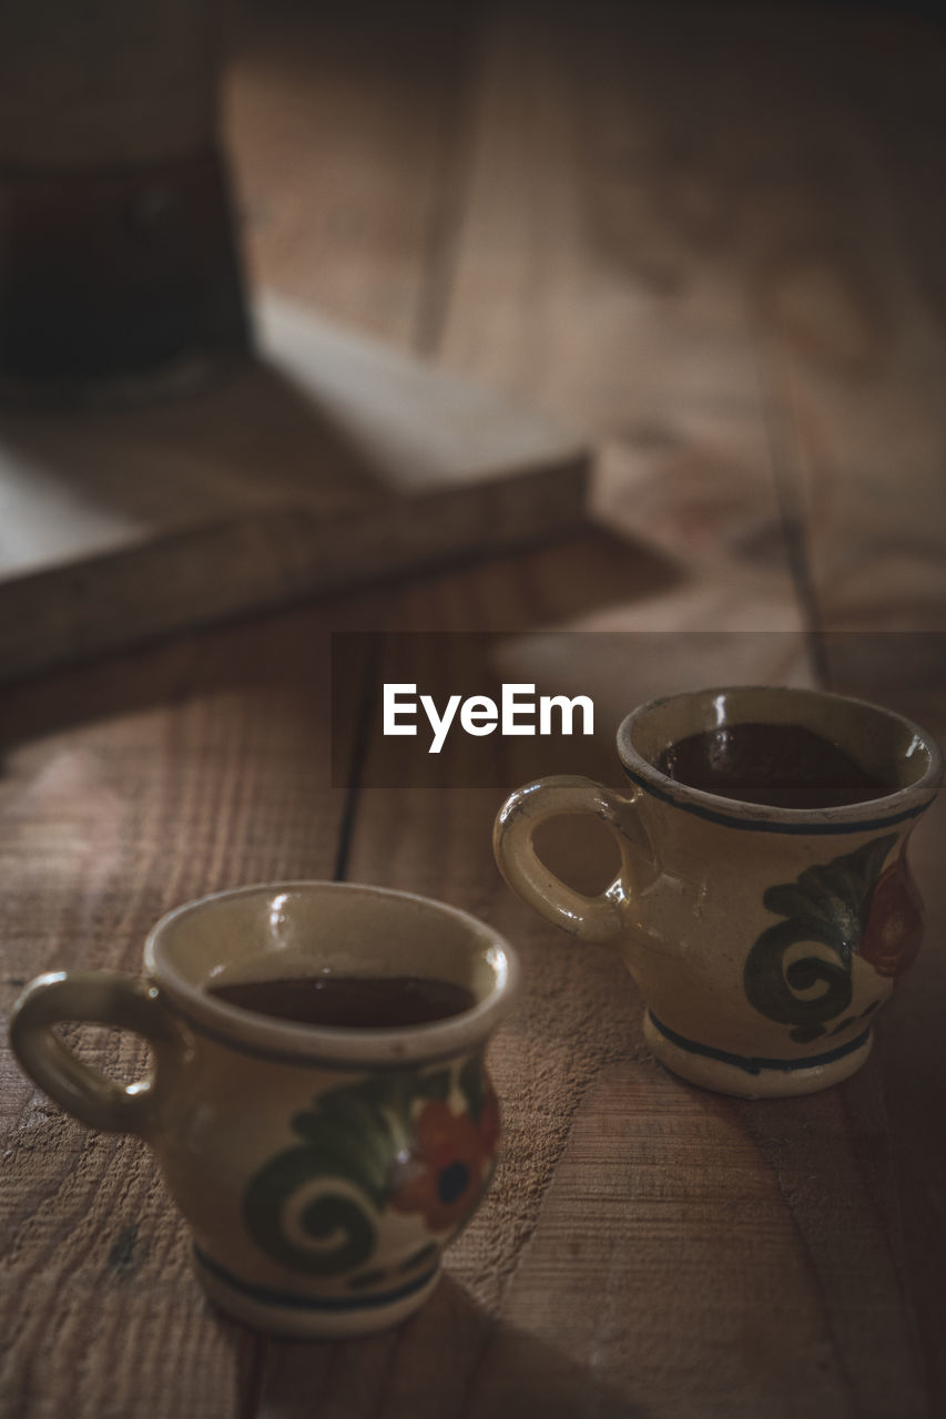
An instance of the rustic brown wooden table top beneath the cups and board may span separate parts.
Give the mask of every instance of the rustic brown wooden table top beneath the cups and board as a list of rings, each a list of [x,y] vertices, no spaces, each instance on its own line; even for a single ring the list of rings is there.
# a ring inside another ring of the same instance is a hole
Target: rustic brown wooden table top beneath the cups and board
[[[53,965],[134,972],[217,888],[428,893],[523,955],[490,1056],[506,1147],[413,1320],[278,1342],[209,1308],[143,1147],[4,1054],[0,1408],[945,1413],[946,807],[913,840],[926,946],[864,1070],[730,1100],[652,1063],[616,956],[503,885],[516,758],[382,788],[355,734],[334,788],[328,683],[332,631],[516,633],[506,678],[551,661],[594,694],[612,780],[616,719],[683,684],[821,681],[946,731],[943,31],[866,6],[273,6],[234,53],[257,281],[584,430],[594,519],[4,690],[4,1007]],[[449,641],[412,644],[443,677]],[[594,876],[567,826],[548,851]],[[135,1037],[84,1040],[141,1071]]]

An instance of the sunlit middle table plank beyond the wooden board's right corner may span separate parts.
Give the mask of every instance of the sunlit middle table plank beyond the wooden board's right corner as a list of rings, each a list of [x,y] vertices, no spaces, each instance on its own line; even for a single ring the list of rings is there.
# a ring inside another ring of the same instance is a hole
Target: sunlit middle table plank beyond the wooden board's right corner
[[[592,431],[614,529],[784,585],[751,312],[702,167],[716,122],[686,94],[710,21],[660,14],[490,14],[440,359]]]

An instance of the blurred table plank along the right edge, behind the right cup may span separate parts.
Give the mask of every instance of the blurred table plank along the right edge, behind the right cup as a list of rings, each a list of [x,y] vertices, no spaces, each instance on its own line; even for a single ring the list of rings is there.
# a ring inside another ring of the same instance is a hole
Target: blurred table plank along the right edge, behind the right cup
[[[783,125],[778,166],[761,183],[751,153],[737,155],[732,177],[766,404],[818,622],[943,629],[946,329],[932,251],[945,228],[930,140],[946,119],[942,28],[835,17],[811,45],[783,21],[761,64],[743,71],[764,71],[776,47],[781,81],[757,105],[756,140],[766,123]],[[736,48],[734,70],[740,53],[749,58]]]

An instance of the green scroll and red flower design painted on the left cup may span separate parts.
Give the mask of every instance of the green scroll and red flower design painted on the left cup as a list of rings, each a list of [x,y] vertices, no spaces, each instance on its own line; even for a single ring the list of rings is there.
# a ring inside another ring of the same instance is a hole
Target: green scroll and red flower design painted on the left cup
[[[352,1273],[358,1286],[388,1209],[437,1236],[472,1218],[493,1172],[499,1103],[479,1051],[459,1069],[386,1070],[328,1090],[291,1128],[300,1141],[246,1188],[247,1230],[274,1261],[318,1276]],[[386,1269],[425,1256],[416,1243]]]

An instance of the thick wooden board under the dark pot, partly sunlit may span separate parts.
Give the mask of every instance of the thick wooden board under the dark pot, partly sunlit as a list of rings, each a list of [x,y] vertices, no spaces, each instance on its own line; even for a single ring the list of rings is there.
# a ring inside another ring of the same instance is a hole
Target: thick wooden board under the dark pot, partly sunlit
[[[273,298],[200,393],[0,421],[0,678],[541,541],[588,455],[541,414]]]

